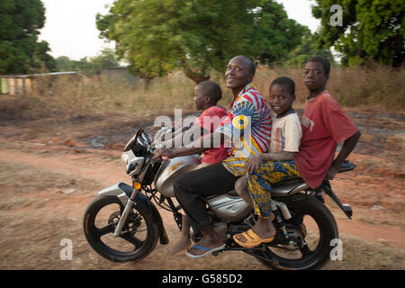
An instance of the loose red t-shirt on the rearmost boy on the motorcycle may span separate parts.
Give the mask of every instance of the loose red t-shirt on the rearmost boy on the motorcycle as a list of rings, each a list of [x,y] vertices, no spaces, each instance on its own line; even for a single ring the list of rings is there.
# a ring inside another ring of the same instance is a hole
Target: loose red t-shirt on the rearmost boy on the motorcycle
[[[332,165],[338,143],[353,136],[356,124],[327,91],[305,103],[302,140],[295,164],[304,181],[315,189]]]

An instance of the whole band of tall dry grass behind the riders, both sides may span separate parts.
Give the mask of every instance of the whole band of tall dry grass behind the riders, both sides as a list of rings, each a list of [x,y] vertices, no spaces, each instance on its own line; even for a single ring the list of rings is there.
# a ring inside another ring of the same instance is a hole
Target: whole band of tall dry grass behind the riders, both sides
[[[258,67],[254,84],[262,94],[277,76],[290,76],[296,84],[295,108],[303,108],[308,94],[303,84],[302,69]],[[347,107],[377,105],[386,109],[405,107],[404,73],[391,67],[332,67],[327,88],[339,103]],[[228,107],[231,94],[222,75],[212,74],[220,84]],[[64,76],[36,81],[38,89],[29,97],[31,107],[49,110],[76,110],[92,112],[136,112],[156,116],[173,112],[175,108],[193,110],[192,80],[181,71],[150,81],[131,83],[125,76]]]

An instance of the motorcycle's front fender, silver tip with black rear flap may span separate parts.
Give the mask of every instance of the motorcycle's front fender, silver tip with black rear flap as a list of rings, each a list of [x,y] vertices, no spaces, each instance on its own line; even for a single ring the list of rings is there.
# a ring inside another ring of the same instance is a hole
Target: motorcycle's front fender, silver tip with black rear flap
[[[113,184],[110,187],[107,187],[100,191],[98,194],[100,196],[103,195],[112,195],[112,196],[117,196],[118,199],[122,202],[122,204],[125,206],[128,202],[128,199],[130,199],[130,195],[133,191],[132,186],[129,184],[125,183],[117,183]],[[135,203],[134,207],[136,208],[139,203],[142,203],[145,207],[148,207],[147,215],[145,215],[148,218],[151,218],[154,222],[157,223],[158,229],[159,229],[159,240],[160,244],[166,245],[169,241],[167,238],[166,234],[166,229],[165,226],[163,225],[163,220],[162,217],[160,216],[159,211],[157,211],[157,208],[155,205],[148,200],[148,198],[145,196],[143,193],[137,193],[137,196],[135,197]]]

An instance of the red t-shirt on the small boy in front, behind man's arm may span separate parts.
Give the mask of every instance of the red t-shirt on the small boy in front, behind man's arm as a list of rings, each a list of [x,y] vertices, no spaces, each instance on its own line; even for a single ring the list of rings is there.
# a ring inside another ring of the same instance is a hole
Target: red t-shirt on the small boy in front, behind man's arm
[[[223,119],[227,116],[228,113],[224,108],[219,106],[211,106],[202,112],[200,117],[198,117],[194,122],[194,125],[198,125],[212,133],[220,125],[220,122],[223,121]],[[228,153],[229,148],[225,148],[224,143],[221,143],[220,147],[211,148],[203,153],[202,163],[220,163],[220,161],[228,157]]]

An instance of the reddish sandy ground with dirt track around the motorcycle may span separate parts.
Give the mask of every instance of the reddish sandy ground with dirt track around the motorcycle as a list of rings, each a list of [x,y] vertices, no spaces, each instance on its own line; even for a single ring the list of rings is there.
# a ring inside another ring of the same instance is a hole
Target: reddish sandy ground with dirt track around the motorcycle
[[[404,269],[405,117],[401,113],[350,110],[363,133],[349,160],[356,170],[332,182],[342,202],[352,205],[347,220],[327,201],[343,242],[343,260],[324,269]],[[112,263],[85,241],[82,217],[96,192],[130,183],[121,148],[132,132],[153,131],[153,119],[129,114],[2,112],[0,117],[0,268],[2,269],[242,269],[266,270],[242,252],[189,259],[167,256],[165,246],[137,263]],[[72,192],[73,191],[73,192]],[[71,193],[68,193],[71,192]],[[159,209],[171,241],[179,237],[173,216]],[[63,239],[72,260],[62,260]],[[61,242],[62,241],[62,242]]]

